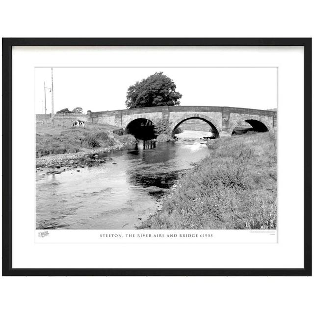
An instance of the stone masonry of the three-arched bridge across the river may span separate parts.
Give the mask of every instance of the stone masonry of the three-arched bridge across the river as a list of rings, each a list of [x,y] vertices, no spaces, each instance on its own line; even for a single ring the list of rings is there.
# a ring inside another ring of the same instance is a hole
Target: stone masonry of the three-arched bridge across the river
[[[277,128],[277,112],[259,109],[213,106],[162,106],[124,109],[113,111],[88,111],[86,120],[127,129],[136,119],[146,119],[154,125],[158,119],[169,121],[172,134],[188,119],[207,122],[217,137],[231,136],[236,127],[248,122],[256,131],[270,131]]]

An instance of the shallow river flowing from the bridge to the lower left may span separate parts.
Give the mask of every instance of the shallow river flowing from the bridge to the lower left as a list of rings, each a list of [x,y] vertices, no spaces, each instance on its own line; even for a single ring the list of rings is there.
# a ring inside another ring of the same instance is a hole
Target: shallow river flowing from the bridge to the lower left
[[[202,140],[140,141],[79,172],[36,174],[36,228],[134,229],[160,210],[184,170],[208,155]]]

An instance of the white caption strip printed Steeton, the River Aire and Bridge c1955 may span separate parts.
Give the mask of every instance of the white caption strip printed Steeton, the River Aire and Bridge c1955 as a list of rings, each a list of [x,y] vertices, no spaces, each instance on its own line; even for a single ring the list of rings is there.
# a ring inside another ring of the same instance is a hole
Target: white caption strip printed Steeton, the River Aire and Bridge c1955
[[[36,243],[277,243],[277,230],[36,230]]]

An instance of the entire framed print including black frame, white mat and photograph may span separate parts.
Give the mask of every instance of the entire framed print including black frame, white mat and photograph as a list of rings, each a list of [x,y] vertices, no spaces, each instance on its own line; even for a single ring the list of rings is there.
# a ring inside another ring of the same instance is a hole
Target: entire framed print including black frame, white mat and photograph
[[[4,42],[9,273],[309,273],[310,40]]]

